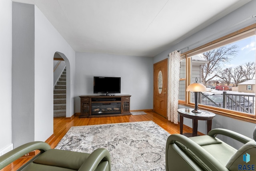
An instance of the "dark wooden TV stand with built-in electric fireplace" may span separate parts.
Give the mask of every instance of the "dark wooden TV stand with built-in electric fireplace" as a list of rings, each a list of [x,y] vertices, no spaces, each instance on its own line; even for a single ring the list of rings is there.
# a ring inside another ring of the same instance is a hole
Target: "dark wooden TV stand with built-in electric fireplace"
[[[81,95],[80,117],[130,115],[131,95]]]

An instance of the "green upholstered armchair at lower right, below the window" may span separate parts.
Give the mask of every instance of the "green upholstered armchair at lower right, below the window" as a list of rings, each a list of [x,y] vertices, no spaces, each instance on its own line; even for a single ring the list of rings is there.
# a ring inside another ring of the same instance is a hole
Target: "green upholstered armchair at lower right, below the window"
[[[218,139],[218,134],[231,137],[244,145],[237,150]],[[167,139],[166,171],[238,170],[256,170],[256,141],[249,137],[219,128],[212,129],[208,135],[188,138],[173,134]]]

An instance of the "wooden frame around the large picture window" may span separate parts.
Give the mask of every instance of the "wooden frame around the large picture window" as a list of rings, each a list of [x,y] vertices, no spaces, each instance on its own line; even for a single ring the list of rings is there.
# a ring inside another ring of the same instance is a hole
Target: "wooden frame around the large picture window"
[[[253,36],[253,35],[256,35],[256,24],[252,24],[250,26],[247,26],[246,28],[242,28],[236,32],[233,32],[231,34],[218,38],[212,42],[199,46],[198,48],[194,48],[192,50],[182,53],[180,56],[185,56],[186,58],[185,88],[188,87],[188,85],[190,85],[190,80],[191,80],[191,58],[190,57],[200,54],[202,52],[206,52],[206,51],[218,48],[220,46],[225,46],[232,42],[236,42],[237,40],[241,40],[243,38]],[[252,88],[253,87],[251,87],[251,89]],[[188,91],[186,91],[185,93],[185,101],[179,100],[179,104],[185,105],[188,107],[194,107],[194,103],[190,102],[190,93]],[[248,115],[246,113],[242,113],[238,111],[212,107],[212,106],[207,106],[202,104],[199,104],[198,107],[200,107],[201,109],[212,111],[219,115],[224,115],[227,117],[232,117],[232,118],[256,123],[256,111],[254,112],[255,113],[254,115]]]

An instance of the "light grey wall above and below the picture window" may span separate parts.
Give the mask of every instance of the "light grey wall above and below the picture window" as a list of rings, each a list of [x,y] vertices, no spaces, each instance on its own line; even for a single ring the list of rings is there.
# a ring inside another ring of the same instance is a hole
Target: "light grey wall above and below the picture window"
[[[228,14],[227,16],[221,18],[220,20],[216,21],[215,23],[211,24],[210,26],[204,28],[203,30],[197,32],[196,34],[190,36],[189,38],[179,42],[178,44],[170,47],[168,50],[162,52],[158,56],[154,57],[154,63],[159,62],[167,57],[167,55],[178,49],[185,48],[186,46],[190,46],[189,49],[182,50],[183,52],[186,52],[187,50],[191,50],[193,48],[196,48],[198,46],[201,46],[203,44],[206,44],[212,40],[216,40],[217,38],[220,38],[222,36],[225,36],[229,33],[232,33],[236,30],[242,29],[246,26],[249,26],[251,24],[256,23],[255,18],[252,18],[246,22],[243,22],[242,24],[239,24],[237,26],[234,26],[228,30],[225,30],[223,32],[218,33],[221,30],[224,30],[225,28],[228,28],[229,26],[232,26],[233,24],[236,24],[254,14],[256,14],[256,0],[252,0],[248,4],[245,4],[241,8],[238,8],[234,12]],[[216,34],[218,33],[218,34]],[[211,36],[214,34],[214,36]],[[209,37],[210,36],[210,37]],[[199,42],[198,42],[199,41]],[[179,106],[179,108],[183,108],[184,106]],[[252,137],[252,131],[254,127],[256,126],[255,123],[250,123],[246,121],[240,121],[239,119],[233,119],[230,117],[224,117],[222,115],[216,115],[212,121],[212,128],[216,128],[216,125],[220,125],[222,128],[230,129],[233,131],[237,131],[239,133],[242,133],[243,135],[247,135],[249,137]],[[189,127],[192,127],[192,121],[191,119],[184,119],[184,124],[188,125]],[[202,133],[206,133],[206,122],[205,121],[199,121],[198,122],[198,131]],[[236,141],[231,141],[230,139],[223,138],[222,139],[232,145],[234,147],[238,148],[240,147],[240,143],[237,143]]]

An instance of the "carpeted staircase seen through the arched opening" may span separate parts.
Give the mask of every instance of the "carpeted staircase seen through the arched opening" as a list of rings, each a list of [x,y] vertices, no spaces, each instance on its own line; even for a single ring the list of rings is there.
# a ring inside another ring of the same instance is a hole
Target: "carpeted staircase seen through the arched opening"
[[[53,91],[53,116],[66,117],[66,68]]]

